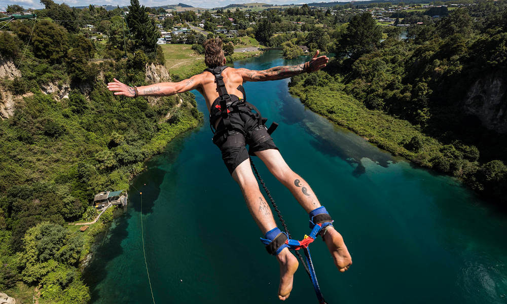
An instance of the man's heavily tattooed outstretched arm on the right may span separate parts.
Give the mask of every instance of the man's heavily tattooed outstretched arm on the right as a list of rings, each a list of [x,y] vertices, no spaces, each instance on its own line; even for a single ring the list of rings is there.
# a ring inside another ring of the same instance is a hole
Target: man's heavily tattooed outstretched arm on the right
[[[240,68],[239,70],[243,76],[243,81],[268,81],[289,78],[304,72],[315,72],[323,68],[328,63],[329,58],[326,56],[317,57],[318,54],[319,51],[317,50],[309,62],[298,65],[275,66],[263,71],[246,68]]]

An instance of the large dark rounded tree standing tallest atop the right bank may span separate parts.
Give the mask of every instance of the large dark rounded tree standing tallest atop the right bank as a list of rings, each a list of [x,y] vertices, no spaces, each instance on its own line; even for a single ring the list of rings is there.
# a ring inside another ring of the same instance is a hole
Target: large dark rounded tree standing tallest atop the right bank
[[[377,49],[382,38],[382,30],[369,12],[355,15],[350,20],[345,34],[339,40],[339,51],[353,60]]]

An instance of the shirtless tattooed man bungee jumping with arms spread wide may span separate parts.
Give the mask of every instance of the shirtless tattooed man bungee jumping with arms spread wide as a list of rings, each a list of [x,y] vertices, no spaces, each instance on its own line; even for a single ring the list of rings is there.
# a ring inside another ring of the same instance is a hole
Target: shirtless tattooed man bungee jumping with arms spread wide
[[[246,102],[242,83],[247,81],[269,81],[292,77],[305,72],[315,72],[323,68],[329,58],[317,57],[294,66],[276,66],[257,71],[246,68],[225,66],[226,59],[219,38],[204,42],[204,63],[208,67],[202,73],[176,83],[158,83],[142,87],[129,87],[118,80],[108,83],[107,88],[115,95],[170,96],[190,90],[197,90],[206,99],[210,112],[210,125],[214,131],[213,143],[222,151],[232,178],[239,184],[253,219],[264,234],[263,242],[269,253],[276,255],[280,264],[280,285],[278,297],[288,298],[292,290],[294,273],[298,269],[298,259],[288,250],[287,235],[276,226],[271,209],[260,192],[257,179],[250,167],[249,155],[258,156],[269,171],[294,195],[300,205],[308,212],[318,235],[322,236],[340,272],[348,270],[352,259],[342,236],[334,229],[332,218],[320,205],[308,183],[291,170],[283,160],[270,136],[272,129],[264,125],[260,112]],[[256,111],[254,113],[253,110]],[[249,145],[249,151],[245,145]],[[318,226],[317,226],[318,225]]]

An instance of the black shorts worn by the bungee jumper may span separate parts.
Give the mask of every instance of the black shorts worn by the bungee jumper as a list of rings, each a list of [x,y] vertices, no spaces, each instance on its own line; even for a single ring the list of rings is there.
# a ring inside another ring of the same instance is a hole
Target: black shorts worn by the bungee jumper
[[[268,134],[265,126],[259,127],[259,120],[245,112],[229,113],[234,134],[223,132],[224,123],[221,121],[216,127],[213,143],[222,151],[222,159],[232,174],[239,164],[248,159],[248,155],[255,156],[255,152],[267,149],[277,149],[273,138]],[[249,149],[246,151],[246,145]]]

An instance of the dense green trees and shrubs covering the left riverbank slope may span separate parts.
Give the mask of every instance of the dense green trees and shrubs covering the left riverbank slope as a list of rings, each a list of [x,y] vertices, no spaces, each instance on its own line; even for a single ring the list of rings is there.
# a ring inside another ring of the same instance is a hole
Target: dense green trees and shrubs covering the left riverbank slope
[[[102,225],[80,233],[67,222],[93,218],[96,193],[128,189],[147,158],[202,121],[191,93],[148,102],[108,91],[106,83],[114,77],[148,84],[147,66],[161,61],[156,45],[137,32],[146,33],[147,27],[132,26],[129,41],[120,44],[115,36],[120,16],[67,8],[48,2],[39,15],[43,20],[12,21],[12,32],[0,33],[0,57],[21,71],[21,77],[0,80],[0,91],[25,94],[14,115],[0,121],[0,290],[23,301],[31,300],[37,286],[47,303],[88,301],[79,265]],[[147,18],[135,0],[130,18],[136,9],[132,24]],[[101,14],[111,17],[105,20],[111,24],[104,42],[74,27],[79,22],[52,21]],[[120,60],[90,62],[118,52]],[[108,209],[101,221],[111,220],[112,212]],[[23,298],[27,288],[29,298]]]

